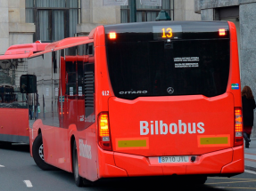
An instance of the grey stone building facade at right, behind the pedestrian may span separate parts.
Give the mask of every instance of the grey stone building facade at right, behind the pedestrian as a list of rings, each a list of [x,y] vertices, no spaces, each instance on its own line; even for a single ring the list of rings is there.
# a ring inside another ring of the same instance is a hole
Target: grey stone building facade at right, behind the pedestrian
[[[235,23],[241,71],[240,88],[249,85],[254,96],[256,95],[255,10],[256,0],[194,0],[194,12],[201,14],[202,20],[229,20]],[[252,129],[252,136],[256,137],[256,128]]]

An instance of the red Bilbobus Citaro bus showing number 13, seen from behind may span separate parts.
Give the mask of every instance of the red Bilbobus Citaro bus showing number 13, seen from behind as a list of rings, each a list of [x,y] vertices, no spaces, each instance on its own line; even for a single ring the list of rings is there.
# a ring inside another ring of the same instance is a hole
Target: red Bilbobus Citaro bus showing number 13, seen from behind
[[[244,172],[240,74],[232,22],[99,26],[29,58],[40,106],[37,165],[97,179]]]

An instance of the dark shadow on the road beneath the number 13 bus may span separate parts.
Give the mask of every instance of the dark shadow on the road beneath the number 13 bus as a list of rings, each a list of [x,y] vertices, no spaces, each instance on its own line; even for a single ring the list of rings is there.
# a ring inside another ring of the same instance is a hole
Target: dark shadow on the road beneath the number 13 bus
[[[47,171],[57,179],[62,179],[75,186],[73,174],[66,171]],[[222,188],[214,188],[206,185],[194,185],[188,183],[181,177],[146,177],[146,178],[121,178],[121,179],[101,179],[96,181],[90,187],[83,187],[81,190],[94,191],[142,191],[142,190],[227,190]]]

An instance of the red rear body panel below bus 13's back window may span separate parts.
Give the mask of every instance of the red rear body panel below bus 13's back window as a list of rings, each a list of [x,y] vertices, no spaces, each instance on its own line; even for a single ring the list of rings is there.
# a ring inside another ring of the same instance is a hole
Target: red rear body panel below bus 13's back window
[[[134,107],[140,109],[134,110]],[[145,156],[202,155],[233,147],[233,112],[234,101],[230,93],[211,99],[203,96],[151,97],[134,100],[111,98],[109,114],[113,151]],[[140,122],[148,123],[147,135],[140,135]],[[177,125],[176,132],[172,126],[174,134],[170,133],[171,123]],[[201,130],[197,127],[198,123],[204,123],[202,134],[199,133]],[[207,136],[227,136],[228,143],[209,147],[201,145],[199,139]],[[120,140],[131,138],[145,139],[148,146],[123,149],[119,147]]]

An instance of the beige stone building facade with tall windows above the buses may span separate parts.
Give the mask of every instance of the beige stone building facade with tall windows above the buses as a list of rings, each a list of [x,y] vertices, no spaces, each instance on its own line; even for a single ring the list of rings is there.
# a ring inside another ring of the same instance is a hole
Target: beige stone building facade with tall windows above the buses
[[[87,36],[99,25],[129,22],[128,2],[103,6],[103,0],[0,0],[0,55],[12,44]],[[162,9],[171,20],[201,20],[192,0],[162,0],[161,7],[136,0],[137,21],[153,21]]]

